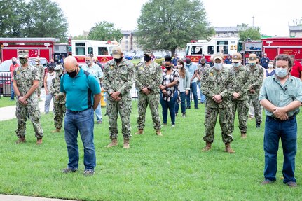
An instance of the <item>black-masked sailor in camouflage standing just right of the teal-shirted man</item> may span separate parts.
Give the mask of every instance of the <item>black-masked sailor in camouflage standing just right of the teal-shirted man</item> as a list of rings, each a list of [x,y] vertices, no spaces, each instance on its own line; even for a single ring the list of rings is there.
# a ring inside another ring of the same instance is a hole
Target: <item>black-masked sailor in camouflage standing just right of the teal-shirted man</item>
[[[117,146],[118,141],[118,113],[122,121],[123,148],[130,148],[131,136],[130,114],[132,109],[132,84],[135,68],[132,62],[125,60],[120,47],[112,50],[113,60],[104,66],[104,90],[109,95],[106,113],[109,117],[109,132],[111,143],[107,147]]]

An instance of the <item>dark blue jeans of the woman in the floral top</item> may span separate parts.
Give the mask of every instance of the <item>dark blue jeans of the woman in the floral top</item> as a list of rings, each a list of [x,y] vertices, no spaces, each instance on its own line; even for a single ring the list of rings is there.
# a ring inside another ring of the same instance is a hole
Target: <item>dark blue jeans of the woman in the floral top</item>
[[[174,95],[170,101],[165,101],[163,99],[163,94],[160,92],[160,104],[163,108],[163,123],[167,123],[167,109],[170,111],[171,123],[175,124],[175,102],[177,100],[177,91],[174,92]]]

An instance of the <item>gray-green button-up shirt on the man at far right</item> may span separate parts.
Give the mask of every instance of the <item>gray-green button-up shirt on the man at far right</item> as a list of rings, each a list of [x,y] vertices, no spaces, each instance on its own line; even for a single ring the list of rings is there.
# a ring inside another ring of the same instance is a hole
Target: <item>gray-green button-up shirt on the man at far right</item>
[[[287,106],[293,101],[302,102],[302,82],[300,79],[289,76],[287,81],[282,85],[277,76],[267,77],[262,85],[259,101],[267,99],[277,107]],[[266,116],[273,116],[273,113],[265,110]],[[289,111],[287,116],[291,117],[300,111],[299,108]]]

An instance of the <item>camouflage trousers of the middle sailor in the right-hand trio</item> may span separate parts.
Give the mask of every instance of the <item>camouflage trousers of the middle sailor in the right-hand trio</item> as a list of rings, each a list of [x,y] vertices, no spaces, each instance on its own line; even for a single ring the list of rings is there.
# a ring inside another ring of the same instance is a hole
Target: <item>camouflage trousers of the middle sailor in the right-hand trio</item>
[[[238,120],[239,120],[239,129],[240,132],[247,133],[247,114],[249,113],[249,103],[248,100],[232,100],[233,104],[233,125],[232,129],[234,130],[235,114],[237,111]]]

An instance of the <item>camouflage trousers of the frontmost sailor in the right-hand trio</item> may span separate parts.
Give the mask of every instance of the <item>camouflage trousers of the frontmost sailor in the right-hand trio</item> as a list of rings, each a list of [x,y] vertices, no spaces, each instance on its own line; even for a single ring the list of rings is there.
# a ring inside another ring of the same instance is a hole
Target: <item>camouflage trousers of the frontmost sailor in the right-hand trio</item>
[[[219,116],[219,124],[221,127],[221,136],[224,143],[233,141],[232,137],[232,120],[233,113],[226,108],[207,107],[205,113],[205,136],[203,140],[212,143],[214,141],[214,130]]]

